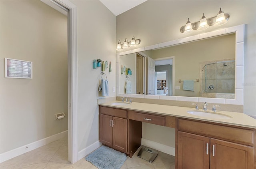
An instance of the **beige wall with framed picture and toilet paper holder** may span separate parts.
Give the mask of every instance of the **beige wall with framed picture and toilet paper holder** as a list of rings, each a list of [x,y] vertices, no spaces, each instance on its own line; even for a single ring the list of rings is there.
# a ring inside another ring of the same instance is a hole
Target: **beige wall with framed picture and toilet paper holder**
[[[1,151],[68,129],[67,17],[40,1],[0,1]],[[4,77],[4,58],[33,62],[33,79]],[[55,120],[55,113],[66,117]]]

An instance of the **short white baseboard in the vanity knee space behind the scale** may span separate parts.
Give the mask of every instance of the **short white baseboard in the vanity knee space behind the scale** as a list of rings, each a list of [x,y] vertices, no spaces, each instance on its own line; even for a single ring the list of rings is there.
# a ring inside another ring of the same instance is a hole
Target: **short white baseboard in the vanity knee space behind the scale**
[[[152,149],[156,149],[158,151],[162,151],[166,154],[170,154],[175,156],[175,148],[174,147],[170,147],[168,145],[164,145],[164,144],[160,144],[151,140],[147,140],[142,138],[141,139],[141,144],[146,146],[146,147],[150,147]]]

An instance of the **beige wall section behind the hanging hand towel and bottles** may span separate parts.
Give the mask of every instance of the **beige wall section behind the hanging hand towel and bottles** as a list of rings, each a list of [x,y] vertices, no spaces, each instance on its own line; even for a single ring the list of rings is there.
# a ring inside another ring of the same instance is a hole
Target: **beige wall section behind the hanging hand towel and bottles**
[[[109,96],[116,86],[116,16],[98,0],[70,0],[77,6],[78,58],[78,151],[99,140],[98,92],[101,68],[92,68],[94,59],[108,60]]]

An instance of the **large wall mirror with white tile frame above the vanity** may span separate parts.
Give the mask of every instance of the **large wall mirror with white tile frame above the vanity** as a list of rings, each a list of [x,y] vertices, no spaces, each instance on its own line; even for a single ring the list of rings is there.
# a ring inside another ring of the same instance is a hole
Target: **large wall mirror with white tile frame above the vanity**
[[[243,105],[244,25],[117,54],[117,96]]]

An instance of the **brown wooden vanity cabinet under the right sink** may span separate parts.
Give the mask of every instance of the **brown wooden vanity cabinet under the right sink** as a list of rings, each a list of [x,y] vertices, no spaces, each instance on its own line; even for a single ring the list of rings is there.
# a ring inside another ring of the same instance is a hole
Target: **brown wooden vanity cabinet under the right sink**
[[[178,119],[177,132],[178,169],[254,169],[254,130]]]

